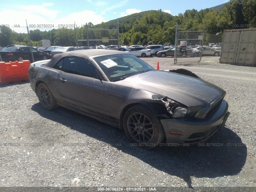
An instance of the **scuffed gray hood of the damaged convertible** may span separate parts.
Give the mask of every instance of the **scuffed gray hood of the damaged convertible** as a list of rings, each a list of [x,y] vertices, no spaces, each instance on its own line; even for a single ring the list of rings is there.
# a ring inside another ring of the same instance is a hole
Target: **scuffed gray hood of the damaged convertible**
[[[115,83],[161,94],[189,107],[205,106],[220,94],[226,94],[202,79],[166,71],[149,71]]]

